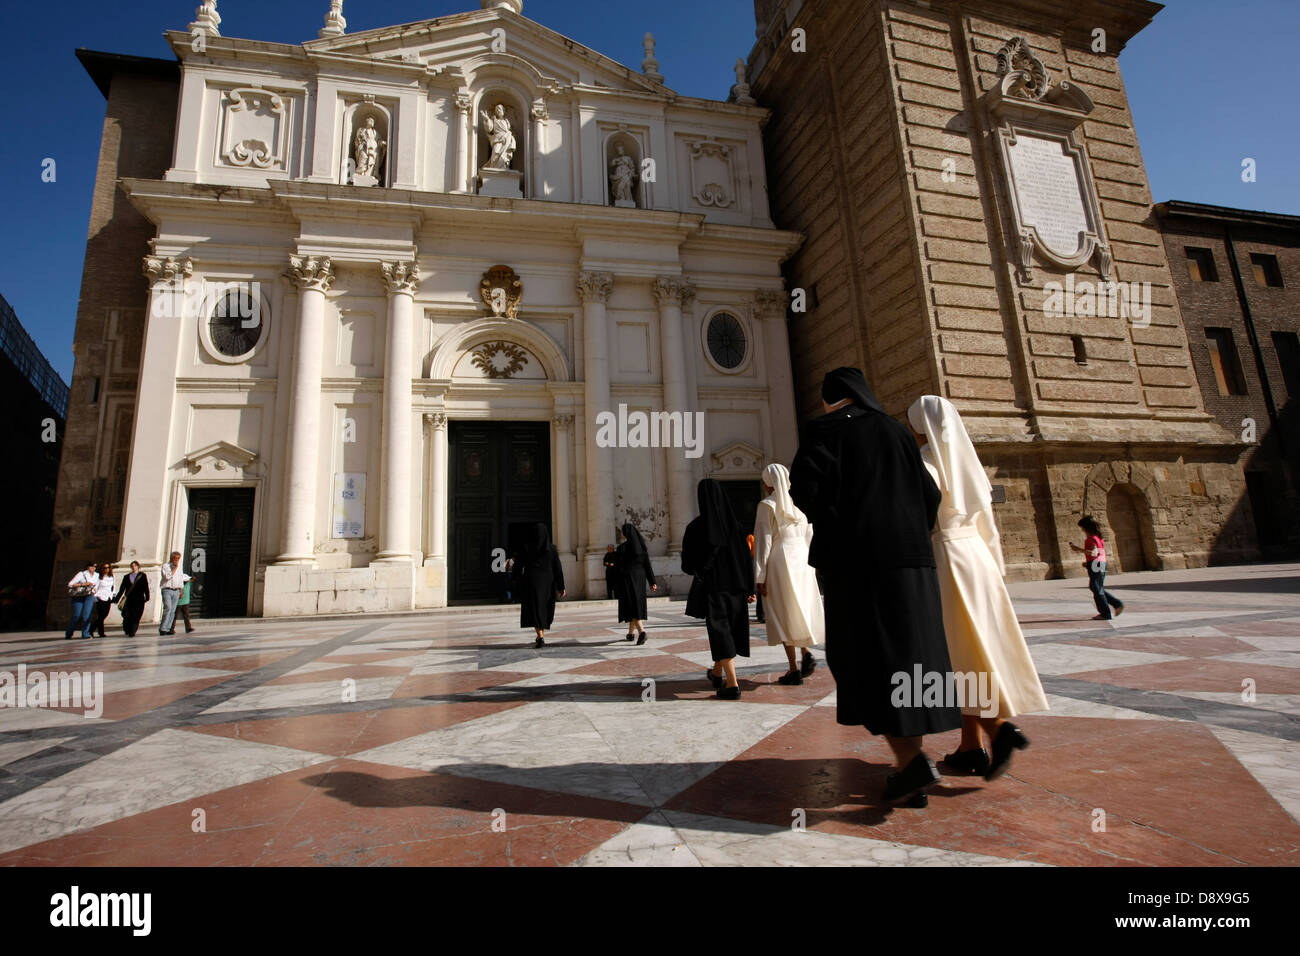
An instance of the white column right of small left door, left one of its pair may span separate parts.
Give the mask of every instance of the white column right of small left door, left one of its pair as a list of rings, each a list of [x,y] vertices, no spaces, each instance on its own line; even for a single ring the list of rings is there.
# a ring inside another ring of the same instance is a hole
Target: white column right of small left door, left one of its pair
[[[298,286],[298,334],[294,337],[294,384],[289,393],[285,455],[285,522],[281,564],[316,559],[316,485],[320,451],[321,359],[325,341],[325,293],[334,281],[326,258],[290,256],[285,273]]]

